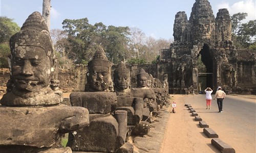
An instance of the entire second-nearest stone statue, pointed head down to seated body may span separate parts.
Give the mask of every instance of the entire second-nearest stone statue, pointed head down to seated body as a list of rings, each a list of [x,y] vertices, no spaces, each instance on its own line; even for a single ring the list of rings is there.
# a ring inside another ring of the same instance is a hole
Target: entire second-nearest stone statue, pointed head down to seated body
[[[67,146],[73,151],[115,152],[125,144],[127,112],[117,110],[117,95],[109,92],[112,63],[98,47],[88,63],[86,91],[70,94],[72,106],[89,110],[90,126],[69,133]]]

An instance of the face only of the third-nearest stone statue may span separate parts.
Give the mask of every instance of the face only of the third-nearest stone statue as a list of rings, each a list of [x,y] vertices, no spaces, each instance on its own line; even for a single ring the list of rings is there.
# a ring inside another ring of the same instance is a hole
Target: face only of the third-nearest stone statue
[[[115,86],[117,89],[124,90],[130,85],[130,76],[127,73],[115,74]]]

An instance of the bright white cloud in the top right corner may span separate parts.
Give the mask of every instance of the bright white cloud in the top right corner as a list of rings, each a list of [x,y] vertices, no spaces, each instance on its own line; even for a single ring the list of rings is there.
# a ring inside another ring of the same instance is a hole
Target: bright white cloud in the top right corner
[[[249,20],[255,20],[256,12],[255,12],[255,1],[253,0],[244,0],[239,1],[234,4],[229,4],[228,2],[220,3],[217,6],[218,9],[227,8],[230,15],[236,14],[236,13],[247,13],[248,16],[246,17],[244,22],[247,22]]]

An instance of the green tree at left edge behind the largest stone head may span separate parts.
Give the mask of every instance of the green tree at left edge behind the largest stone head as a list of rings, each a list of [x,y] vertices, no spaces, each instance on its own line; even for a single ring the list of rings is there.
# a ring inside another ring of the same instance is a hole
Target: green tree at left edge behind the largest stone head
[[[13,19],[0,17],[0,68],[8,68],[9,39],[19,30],[20,27]]]

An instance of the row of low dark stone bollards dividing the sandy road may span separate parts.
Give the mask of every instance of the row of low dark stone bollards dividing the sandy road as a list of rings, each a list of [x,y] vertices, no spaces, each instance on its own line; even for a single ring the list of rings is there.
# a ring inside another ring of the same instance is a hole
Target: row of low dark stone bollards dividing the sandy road
[[[224,153],[234,153],[236,150],[232,148],[229,144],[225,143],[221,139],[219,139],[219,135],[212,129],[209,128],[209,125],[203,121],[203,119],[198,115],[198,113],[193,109],[190,104],[185,104],[185,107],[188,108],[189,112],[192,116],[195,117],[195,121],[199,121],[199,125],[203,129],[203,133],[211,139],[211,144],[215,146],[218,150]]]

